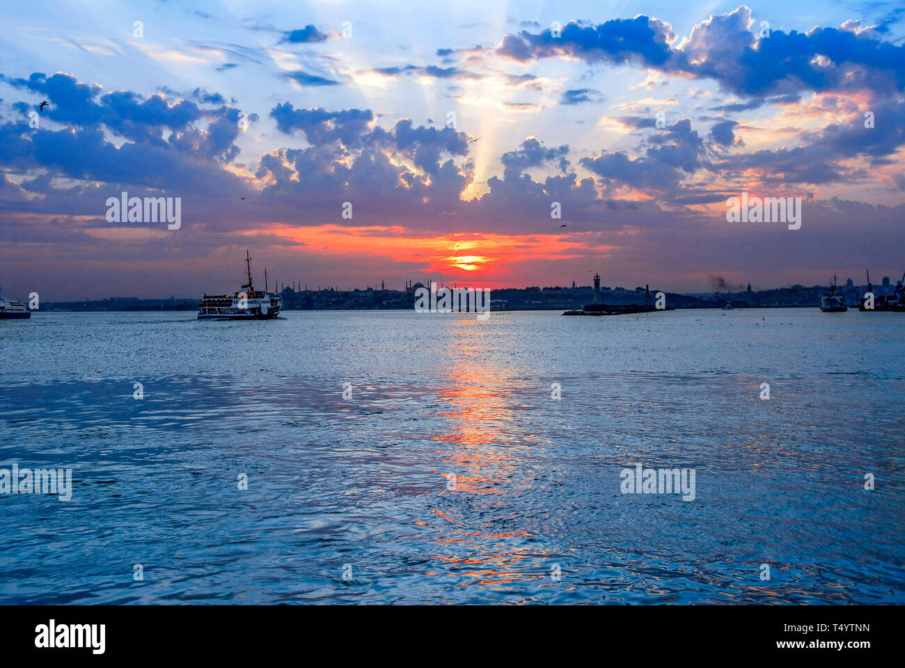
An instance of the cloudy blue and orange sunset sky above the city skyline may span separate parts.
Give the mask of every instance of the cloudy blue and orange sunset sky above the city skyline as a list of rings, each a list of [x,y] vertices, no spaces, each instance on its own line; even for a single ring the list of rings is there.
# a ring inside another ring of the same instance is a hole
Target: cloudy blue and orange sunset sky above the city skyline
[[[0,18],[6,296],[235,291],[246,249],[271,289],[905,271],[900,3],[36,0]],[[110,220],[123,192],[178,198],[179,228]],[[742,192],[801,198],[800,228],[730,222]]]

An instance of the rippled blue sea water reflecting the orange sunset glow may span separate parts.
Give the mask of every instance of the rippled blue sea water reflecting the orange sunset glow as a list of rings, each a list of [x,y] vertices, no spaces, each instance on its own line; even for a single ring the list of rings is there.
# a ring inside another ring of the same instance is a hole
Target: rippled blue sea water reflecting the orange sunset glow
[[[903,603],[903,332],[816,309],[0,321],[0,467],[73,477],[68,502],[0,495],[0,603]],[[694,501],[623,494],[636,463],[693,468]]]

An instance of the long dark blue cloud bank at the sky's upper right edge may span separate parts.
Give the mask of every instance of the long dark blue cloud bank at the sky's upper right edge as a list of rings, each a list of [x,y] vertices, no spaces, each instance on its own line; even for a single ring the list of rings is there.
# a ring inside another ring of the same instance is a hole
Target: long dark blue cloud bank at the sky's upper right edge
[[[751,11],[742,5],[695,25],[687,40],[673,46],[670,25],[649,16],[596,26],[570,22],[559,37],[549,29],[507,34],[497,52],[521,62],[561,56],[588,63],[633,62],[661,72],[713,79],[723,90],[746,98],[801,91],[888,94],[905,90],[901,66],[905,46],[883,42],[870,33],[834,28],[814,28],[809,33],[773,30],[760,38],[749,30],[750,24]]]

